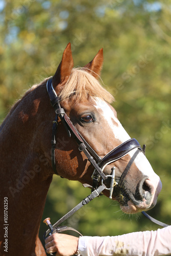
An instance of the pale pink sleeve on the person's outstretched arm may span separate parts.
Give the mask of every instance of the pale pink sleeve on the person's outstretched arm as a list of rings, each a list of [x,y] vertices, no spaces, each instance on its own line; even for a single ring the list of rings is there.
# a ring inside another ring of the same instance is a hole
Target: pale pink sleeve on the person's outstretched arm
[[[81,256],[167,255],[171,253],[171,226],[116,237],[80,237],[78,249]]]

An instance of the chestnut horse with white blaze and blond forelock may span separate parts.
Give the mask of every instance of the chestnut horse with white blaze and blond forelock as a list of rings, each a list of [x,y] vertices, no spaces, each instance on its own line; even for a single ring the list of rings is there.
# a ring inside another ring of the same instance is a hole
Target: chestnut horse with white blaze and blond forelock
[[[143,151],[139,150],[138,142],[130,138],[119,122],[111,105],[114,97],[99,81],[102,64],[103,49],[100,49],[86,66],[74,68],[69,43],[54,76],[29,89],[13,105],[0,126],[1,208],[4,209],[4,215],[1,214],[1,226],[4,227],[1,255],[46,255],[38,231],[55,173],[94,186],[91,176],[101,160],[94,167],[84,149],[78,148],[77,138],[69,136],[61,120],[63,113],[74,127],[74,133],[79,134],[93,149],[92,152],[104,160],[100,174],[110,176],[115,169],[115,181],[118,182],[115,182],[116,189],[112,190],[111,198],[119,202],[122,211],[134,214],[155,206],[161,190],[160,178]],[[61,118],[55,119],[50,103],[49,79],[52,92],[61,105]],[[57,124],[53,150],[52,123]],[[135,146],[127,151],[132,143]],[[124,146],[124,152],[120,145]],[[137,150],[139,154],[134,157]],[[121,156],[111,158],[114,152]],[[51,161],[52,154],[55,165]],[[131,159],[131,165],[128,165]],[[122,187],[117,186],[126,166]],[[97,183],[101,180],[101,176],[98,177]],[[103,183],[109,188],[110,181],[108,177]],[[109,197],[110,191],[104,189],[103,194]]]

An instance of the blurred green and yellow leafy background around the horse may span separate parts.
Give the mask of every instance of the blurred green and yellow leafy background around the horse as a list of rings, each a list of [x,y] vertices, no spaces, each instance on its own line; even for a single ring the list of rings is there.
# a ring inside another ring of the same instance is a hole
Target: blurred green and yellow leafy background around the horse
[[[115,96],[125,130],[140,144],[161,177],[158,203],[148,213],[170,221],[170,1],[0,0],[0,120],[34,83],[53,75],[71,42],[75,66],[104,50],[102,80]],[[44,216],[52,223],[89,195],[75,181],[54,177]],[[106,197],[95,199],[68,223],[88,236],[115,236],[158,226],[125,215]],[[40,225],[40,238],[45,232]]]

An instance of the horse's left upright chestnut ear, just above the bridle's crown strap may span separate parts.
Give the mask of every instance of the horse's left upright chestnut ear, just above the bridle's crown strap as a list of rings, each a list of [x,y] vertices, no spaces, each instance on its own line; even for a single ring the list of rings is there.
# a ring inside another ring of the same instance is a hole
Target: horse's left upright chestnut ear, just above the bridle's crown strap
[[[55,87],[59,83],[66,82],[71,74],[73,67],[74,62],[71,52],[71,43],[69,42],[66,49],[63,51],[62,60],[56,70],[55,75],[53,76],[53,86]]]

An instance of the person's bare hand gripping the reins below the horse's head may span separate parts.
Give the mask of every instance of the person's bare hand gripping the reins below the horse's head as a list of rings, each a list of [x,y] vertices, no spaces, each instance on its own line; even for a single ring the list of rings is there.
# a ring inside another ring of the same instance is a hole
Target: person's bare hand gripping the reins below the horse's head
[[[47,253],[56,252],[58,256],[70,256],[77,252],[77,237],[69,234],[54,233],[45,240],[45,248]]]

